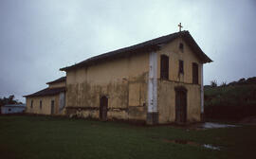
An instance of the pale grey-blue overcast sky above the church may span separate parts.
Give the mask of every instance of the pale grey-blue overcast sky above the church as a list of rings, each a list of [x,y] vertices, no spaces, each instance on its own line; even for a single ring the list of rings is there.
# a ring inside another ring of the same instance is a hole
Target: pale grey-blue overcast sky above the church
[[[255,0],[0,0],[0,97],[22,97],[61,67],[178,31],[214,62],[204,81],[255,77]]]

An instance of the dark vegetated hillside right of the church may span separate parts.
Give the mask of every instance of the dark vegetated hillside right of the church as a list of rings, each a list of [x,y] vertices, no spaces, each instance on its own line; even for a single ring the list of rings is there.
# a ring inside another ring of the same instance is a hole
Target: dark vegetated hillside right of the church
[[[220,86],[206,85],[205,115],[216,119],[241,119],[256,115],[256,77]]]

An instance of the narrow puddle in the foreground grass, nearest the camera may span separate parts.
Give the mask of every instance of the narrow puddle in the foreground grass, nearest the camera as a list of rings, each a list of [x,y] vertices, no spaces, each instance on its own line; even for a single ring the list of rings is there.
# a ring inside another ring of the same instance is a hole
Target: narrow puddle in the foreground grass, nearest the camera
[[[198,144],[196,142],[192,142],[192,141],[188,141],[188,140],[168,140],[168,139],[164,139],[164,142],[168,142],[168,143],[174,143],[174,144],[182,144],[182,145],[192,145],[192,146],[197,146],[197,147],[203,147],[206,149],[210,149],[210,150],[220,150],[219,147],[215,147],[212,146],[210,144]]]

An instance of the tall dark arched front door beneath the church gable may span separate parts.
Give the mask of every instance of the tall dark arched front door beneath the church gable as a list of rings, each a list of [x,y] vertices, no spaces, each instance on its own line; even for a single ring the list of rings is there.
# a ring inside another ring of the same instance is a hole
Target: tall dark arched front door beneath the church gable
[[[187,121],[187,89],[182,86],[175,87],[175,121]]]

